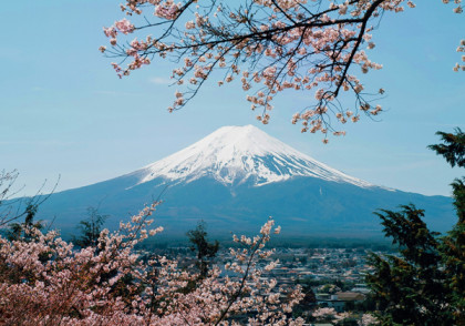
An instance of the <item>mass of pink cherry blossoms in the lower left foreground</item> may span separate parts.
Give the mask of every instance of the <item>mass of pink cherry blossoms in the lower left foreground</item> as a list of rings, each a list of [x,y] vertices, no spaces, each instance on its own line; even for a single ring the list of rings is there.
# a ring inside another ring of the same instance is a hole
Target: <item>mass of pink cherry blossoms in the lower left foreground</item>
[[[142,257],[135,246],[162,232],[151,228],[157,203],[120,230],[102,231],[97,245],[76,248],[51,231],[25,230],[28,240],[0,237],[0,324],[7,325],[301,325],[290,318],[302,298],[300,287],[283,295],[276,279],[265,279],[257,262],[273,221],[260,234],[237,237],[232,261],[205,278],[164,256]],[[279,228],[275,228],[279,232]]]

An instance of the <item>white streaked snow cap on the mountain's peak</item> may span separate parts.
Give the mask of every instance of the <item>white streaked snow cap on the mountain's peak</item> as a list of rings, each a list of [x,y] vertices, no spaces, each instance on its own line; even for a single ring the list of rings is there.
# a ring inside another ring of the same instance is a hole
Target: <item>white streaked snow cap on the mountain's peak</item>
[[[188,183],[210,176],[226,185],[252,181],[255,186],[260,186],[292,176],[311,176],[361,187],[374,186],[322,164],[252,125],[220,128],[132,175],[140,179],[137,184],[158,177]]]

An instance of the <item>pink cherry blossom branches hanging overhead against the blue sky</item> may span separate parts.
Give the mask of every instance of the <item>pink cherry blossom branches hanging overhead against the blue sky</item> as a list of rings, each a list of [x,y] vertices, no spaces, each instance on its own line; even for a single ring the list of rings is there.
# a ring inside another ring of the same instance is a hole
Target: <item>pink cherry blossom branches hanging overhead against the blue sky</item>
[[[461,0],[454,2],[454,12],[461,13]],[[182,62],[172,78],[185,90],[176,92],[170,112],[186,105],[211,78],[218,78],[219,85],[239,80],[248,93],[255,89],[246,99],[252,110],[260,109],[257,119],[265,124],[278,93],[304,91],[314,98],[313,104],[300,108],[292,123],[300,121],[302,132],[321,132],[327,141],[328,132],[344,135],[334,129],[331,118],[343,124],[359,121],[360,113],[373,116],[381,112],[366,98],[382,92],[365,92],[353,71],[356,67],[362,73],[382,68],[366,54],[375,48],[371,31],[382,14],[402,12],[404,7],[415,4],[410,0],[208,0],[202,4],[195,0],[126,0],[122,11],[140,23],[136,27],[123,19],[105,28],[113,47],[101,47],[101,51],[122,61],[131,59],[126,68],[113,63],[120,77],[149,64],[156,55]],[[146,29],[155,37],[144,35]],[[118,33],[136,32],[143,37],[117,41]],[[353,113],[338,100],[342,98],[355,100]]]

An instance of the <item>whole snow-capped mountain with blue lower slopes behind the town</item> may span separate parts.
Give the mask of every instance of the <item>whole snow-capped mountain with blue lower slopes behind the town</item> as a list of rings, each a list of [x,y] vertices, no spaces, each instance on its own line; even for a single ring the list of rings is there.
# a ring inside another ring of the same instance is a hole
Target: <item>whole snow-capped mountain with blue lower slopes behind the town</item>
[[[272,216],[282,235],[366,237],[380,234],[378,208],[414,203],[435,231],[454,223],[452,200],[373,185],[300,153],[252,126],[224,126],[135,172],[51,195],[39,218],[73,232],[89,206],[108,226],[159,197],[156,222],[184,236],[204,220],[213,234],[250,233]]]

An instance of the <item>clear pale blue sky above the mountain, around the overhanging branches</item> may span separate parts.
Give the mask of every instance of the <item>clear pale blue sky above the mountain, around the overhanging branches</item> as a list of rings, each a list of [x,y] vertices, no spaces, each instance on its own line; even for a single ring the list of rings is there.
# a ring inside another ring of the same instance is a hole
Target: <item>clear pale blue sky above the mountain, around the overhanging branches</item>
[[[452,71],[465,16],[442,1],[388,14],[373,32],[371,59],[384,65],[363,83],[384,88],[386,112],[362,119],[345,137],[301,134],[290,123],[312,96],[283,93],[269,125],[255,120],[239,85],[213,82],[182,111],[167,113],[176,90],[169,62],[120,80],[99,47],[122,18],[114,0],[8,1],[0,11],[0,170],[17,169],[21,193],[83,186],[132,172],[223,125],[255,124],[314,159],[371,183],[450,195],[459,170],[428,151],[437,130],[465,129],[465,73]]]

